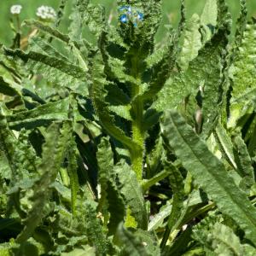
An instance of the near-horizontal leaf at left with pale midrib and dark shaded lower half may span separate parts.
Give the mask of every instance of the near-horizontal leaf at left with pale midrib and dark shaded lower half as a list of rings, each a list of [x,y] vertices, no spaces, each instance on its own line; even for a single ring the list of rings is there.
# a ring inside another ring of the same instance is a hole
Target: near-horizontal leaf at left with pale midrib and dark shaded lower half
[[[12,129],[20,130],[23,127],[32,129],[38,126],[48,125],[54,120],[67,120],[68,108],[69,98],[65,98],[58,102],[49,102],[32,110],[9,115],[7,116],[7,120]]]

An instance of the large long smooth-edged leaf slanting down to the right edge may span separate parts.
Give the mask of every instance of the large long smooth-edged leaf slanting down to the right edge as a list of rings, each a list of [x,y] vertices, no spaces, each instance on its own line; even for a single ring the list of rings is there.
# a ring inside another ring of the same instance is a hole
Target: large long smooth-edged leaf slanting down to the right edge
[[[247,195],[236,187],[224,165],[176,111],[166,112],[162,127],[177,157],[195,178],[195,182],[211,196],[219,210],[233,218],[245,231],[247,238],[256,244],[255,208]]]

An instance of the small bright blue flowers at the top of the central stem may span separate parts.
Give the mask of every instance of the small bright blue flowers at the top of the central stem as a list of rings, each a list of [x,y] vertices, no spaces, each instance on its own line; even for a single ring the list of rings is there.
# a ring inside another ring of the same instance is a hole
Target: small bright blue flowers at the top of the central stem
[[[119,13],[119,20],[125,24],[131,21],[134,26],[137,26],[137,24],[143,20],[143,13],[137,9],[132,9],[131,6],[120,7]]]

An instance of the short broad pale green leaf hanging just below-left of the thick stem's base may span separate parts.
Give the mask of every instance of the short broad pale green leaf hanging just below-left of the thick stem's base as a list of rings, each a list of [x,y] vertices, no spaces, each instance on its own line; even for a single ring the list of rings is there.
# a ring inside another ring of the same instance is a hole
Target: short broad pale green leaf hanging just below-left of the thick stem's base
[[[137,181],[135,172],[124,161],[114,167],[114,172],[118,174],[120,193],[131,209],[131,215],[136,219],[138,228],[147,230],[148,213],[144,203],[143,190]]]

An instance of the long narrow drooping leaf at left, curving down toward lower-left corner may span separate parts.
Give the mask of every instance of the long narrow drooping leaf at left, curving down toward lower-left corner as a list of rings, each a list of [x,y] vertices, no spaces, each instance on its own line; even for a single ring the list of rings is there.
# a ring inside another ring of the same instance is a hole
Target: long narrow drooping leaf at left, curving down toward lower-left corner
[[[33,185],[32,209],[29,210],[26,219],[22,222],[25,227],[16,238],[17,243],[22,243],[32,236],[35,228],[44,217],[44,207],[49,199],[51,185],[55,182],[64,160],[70,133],[68,123],[64,123],[61,131],[60,124],[54,123],[49,126],[43,148],[42,163],[38,166],[41,177]]]

